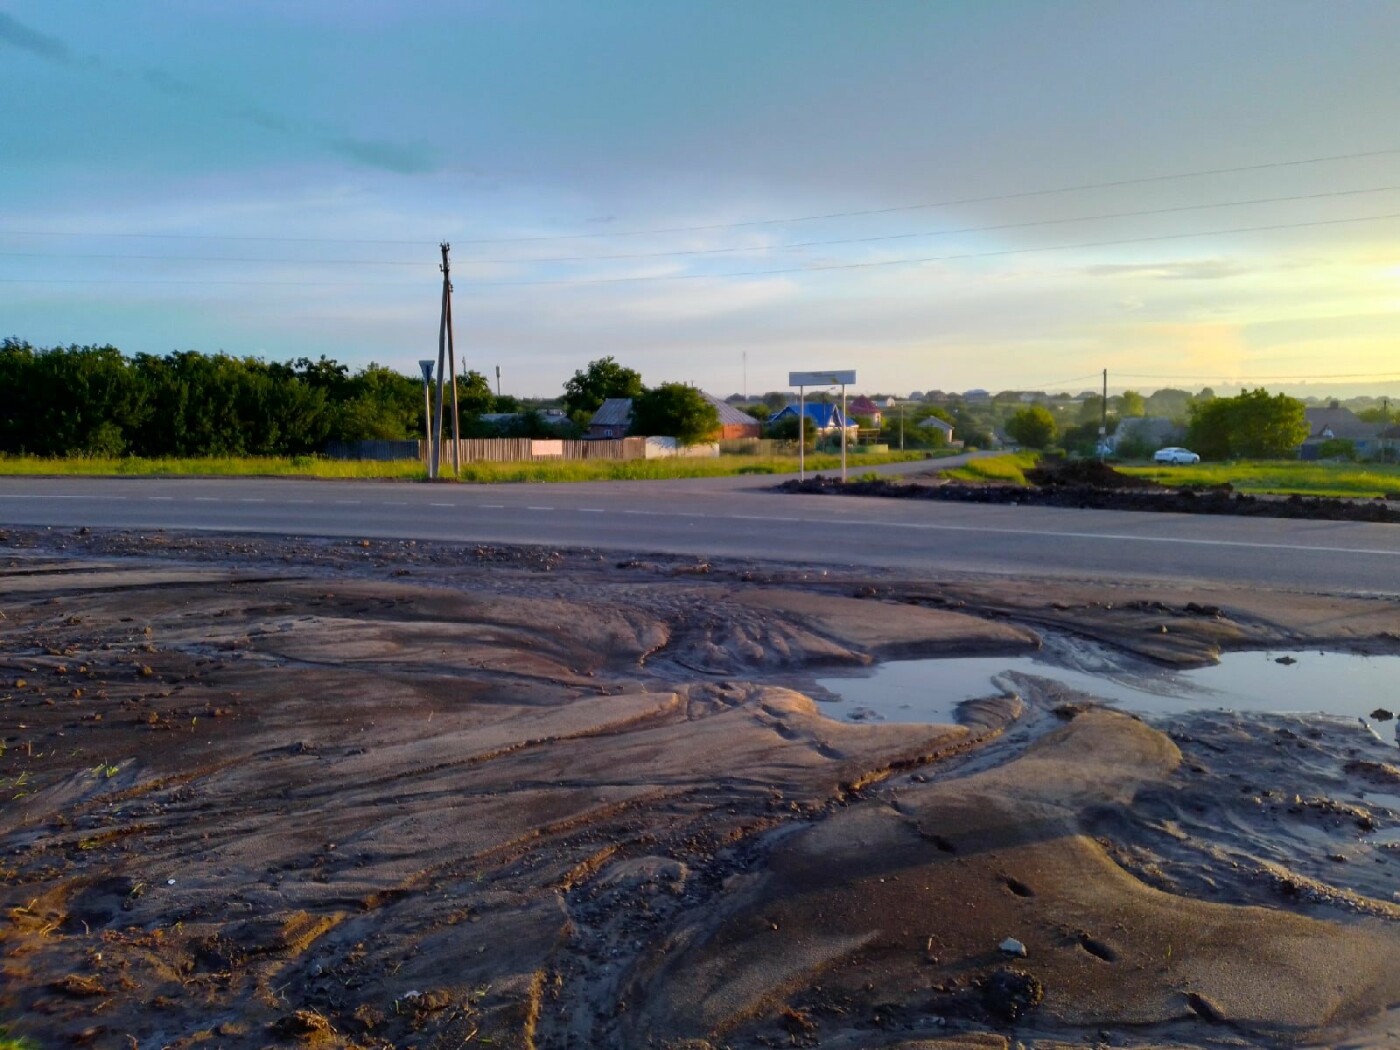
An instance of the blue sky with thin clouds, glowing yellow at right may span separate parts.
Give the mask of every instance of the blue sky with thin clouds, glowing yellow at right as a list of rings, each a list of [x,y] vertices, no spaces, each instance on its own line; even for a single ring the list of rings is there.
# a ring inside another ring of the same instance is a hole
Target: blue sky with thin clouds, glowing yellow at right
[[[1400,381],[1393,0],[0,0],[0,336]]]

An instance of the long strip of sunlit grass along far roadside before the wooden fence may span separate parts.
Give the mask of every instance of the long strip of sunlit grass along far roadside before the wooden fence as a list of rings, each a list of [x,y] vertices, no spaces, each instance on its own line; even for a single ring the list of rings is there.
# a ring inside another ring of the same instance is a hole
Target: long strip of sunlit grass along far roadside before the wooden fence
[[[861,455],[861,468],[875,463],[899,463],[923,459],[923,452]],[[806,469],[837,470],[840,455],[812,454]],[[448,476],[449,469],[444,469]],[[714,459],[560,459],[528,463],[463,463],[462,482],[613,482],[668,477],[724,477],[729,475],[797,473],[797,456],[725,455]],[[413,459],[389,462],[322,459],[319,456],[256,458],[220,456],[200,459],[41,459],[38,456],[0,456],[0,475],[64,476],[260,476],[260,477],[330,477],[426,480],[423,463]],[[3,1049],[0,1049],[3,1050]]]

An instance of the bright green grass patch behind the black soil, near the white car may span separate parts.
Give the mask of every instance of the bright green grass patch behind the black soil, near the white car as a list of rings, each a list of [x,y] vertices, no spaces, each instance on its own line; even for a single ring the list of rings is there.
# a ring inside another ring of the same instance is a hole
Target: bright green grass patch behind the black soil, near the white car
[[[1246,459],[1235,463],[1156,466],[1116,463],[1126,475],[1172,486],[1229,483],[1235,491],[1275,496],[1372,498],[1400,491],[1400,463],[1316,463]]]

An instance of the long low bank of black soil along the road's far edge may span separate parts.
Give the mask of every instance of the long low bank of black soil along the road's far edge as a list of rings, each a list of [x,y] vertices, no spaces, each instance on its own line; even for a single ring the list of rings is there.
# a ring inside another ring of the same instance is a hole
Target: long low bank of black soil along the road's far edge
[[[1100,482],[1089,479],[1102,479]],[[777,486],[778,491],[830,496],[883,496],[902,500],[1001,503],[1022,507],[1077,507],[1105,511],[1168,514],[1235,514],[1253,518],[1400,522],[1387,500],[1338,500],[1320,496],[1247,496],[1228,484],[1168,489],[1147,479],[1120,475],[1093,461],[1047,465],[1026,472],[1029,486],[963,484],[956,482],[847,482],[816,475]]]

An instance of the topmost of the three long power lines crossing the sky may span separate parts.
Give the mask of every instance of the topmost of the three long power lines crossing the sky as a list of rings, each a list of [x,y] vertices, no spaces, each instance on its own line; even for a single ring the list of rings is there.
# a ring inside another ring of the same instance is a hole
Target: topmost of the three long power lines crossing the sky
[[[1106,182],[1085,182],[1072,186],[1056,186],[1047,189],[1028,189],[1014,193],[995,193],[976,197],[952,197],[948,200],[925,202],[923,204],[897,204],[882,209],[862,209],[855,211],[827,211],[809,216],[788,216],[781,218],[750,218],[738,223],[707,223],[699,225],[652,227],[648,230],[613,230],[588,234],[550,234],[533,237],[487,237],[476,239],[459,239],[459,244],[531,244],[539,241],[578,241],[589,238],[610,237],[645,237],[652,234],[689,234],[710,230],[743,230],[757,225],[784,225],[790,223],[815,223],[830,218],[858,218],[865,216],[888,216],[900,211],[924,211],[941,207],[959,207],[963,204],[990,204],[1004,200],[1023,200],[1026,197],[1053,196],[1058,193],[1081,193],[1092,189],[1117,189],[1123,186],[1144,186],[1155,182],[1175,182],[1180,179],[1207,178],[1212,175],[1236,175],[1253,171],[1268,171],[1275,168],[1298,168],[1313,164],[1333,164],[1337,161],[1366,160],[1372,157],[1392,157],[1400,154],[1400,148],[1368,150],[1364,153],[1331,154],[1327,157],[1305,157],[1284,161],[1267,161],[1264,164],[1245,164],[1229,168],[1203,168],[1198,171],[1173,172],[1166,175],[1142,175],[1131,179],[1112,179]],[[283,244],[379,244],[379,245],[426,245],[433,238],[421,239],[375,239],[375,238],[332,238],[332,237],[252,237],[244,234],[150,234],[150,232],[73,232],[73,231],[39,231],[39,230],[0,230],[4,237],[111,237],[111,238],[146,238],[171,241],[262,241]]]

